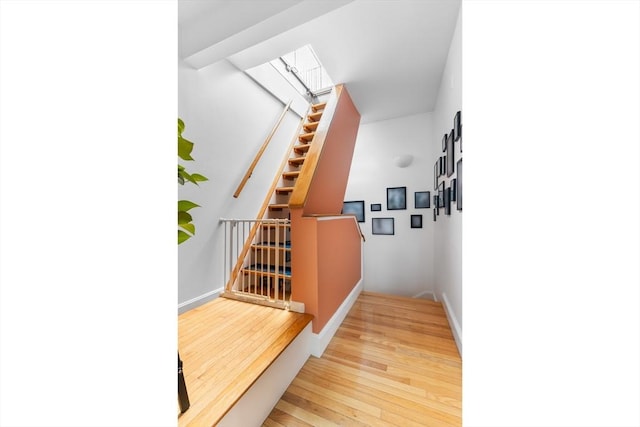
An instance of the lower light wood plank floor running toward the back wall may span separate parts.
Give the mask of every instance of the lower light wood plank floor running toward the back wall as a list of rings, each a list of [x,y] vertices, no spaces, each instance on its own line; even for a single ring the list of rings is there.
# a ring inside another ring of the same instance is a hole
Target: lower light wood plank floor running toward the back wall
[[[331,425],[462,425],[462,361],[440,303],[363,292],[264,422]]]

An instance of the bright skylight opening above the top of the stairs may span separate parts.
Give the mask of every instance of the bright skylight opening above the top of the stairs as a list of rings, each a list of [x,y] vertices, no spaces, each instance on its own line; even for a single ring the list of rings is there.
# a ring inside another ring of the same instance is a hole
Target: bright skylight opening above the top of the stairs
[[[333,82],[311,45],[269,62],[301,94],[312,98],[329,92]]]

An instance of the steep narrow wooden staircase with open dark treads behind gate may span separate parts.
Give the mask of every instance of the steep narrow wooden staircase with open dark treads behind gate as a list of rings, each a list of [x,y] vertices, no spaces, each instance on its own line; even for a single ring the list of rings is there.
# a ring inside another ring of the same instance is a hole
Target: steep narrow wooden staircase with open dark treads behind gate
[[[313,144],[326,102],[310,106],[284,168],[279,172],[265,216],[252,221],[246,234],[252,242],[237,280],[224,296],[289,308],[291,300],[291,215],[289,198]],[[253,238],[252,238],[253,236]],[[232,282],[233,277],[232,277]],[[229,292],[230,291],[230,292]]]

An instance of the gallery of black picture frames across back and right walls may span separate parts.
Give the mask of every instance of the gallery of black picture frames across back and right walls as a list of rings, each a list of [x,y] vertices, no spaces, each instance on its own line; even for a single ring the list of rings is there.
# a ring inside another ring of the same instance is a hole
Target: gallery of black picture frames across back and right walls
[[[462,211],[462,112],[458,111],[453,117],[453,127],[442,137],[442,155],[438,156],[433,166],[433,189],[407,191],[407,187],[387,187],[386,203],[384,200],[370,201],[349,200],[343,205],[343,214],[355,215],[358,222],[365,222],[365,211],[371,215],[371,233],[373,235],[394,235],[396,226],[422,228],[423,215],[407,215],[406,221],[402,216],[385,215],[386,211],[407,210],[407,205],[413,203],[414,209],[432,209],[433,221],[438,216],[451,215],[453,205],[455,210]],[[460,153],[456,161],[456,153]],[[447,180],[448,178],[448,180]],[[394,212],[397,214],[397,212]],[[396,225],[396,219],[402,224]]]

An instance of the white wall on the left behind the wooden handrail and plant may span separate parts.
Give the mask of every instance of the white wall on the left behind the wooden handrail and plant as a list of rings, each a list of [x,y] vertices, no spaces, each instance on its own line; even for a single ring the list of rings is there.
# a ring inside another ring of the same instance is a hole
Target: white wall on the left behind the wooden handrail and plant
[[[224,286],[219,219],[256,217],[295,136],[298,116],[288,113],[240,197],[234,199],[233,193],[282,109],[281,102],[227,61],[200,70],[179,61],[178,114],[186,125],[183,136],[195,143],[195,161],[181,163],[209,178],[199,187],[178,186],[180,199],[201,206],[190,211],[195,237],[178,247],[181,311],[215,297],[214,291]]]

